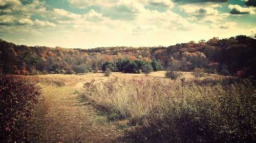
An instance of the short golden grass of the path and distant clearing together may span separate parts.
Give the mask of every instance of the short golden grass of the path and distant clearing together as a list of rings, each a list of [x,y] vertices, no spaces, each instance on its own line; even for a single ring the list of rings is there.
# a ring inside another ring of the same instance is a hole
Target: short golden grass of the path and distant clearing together
[[[84,98],[84,83],[93,80],[94,83],[103,83],[101,81],[107,82],[115,78],[170,81],[164,77],[164,73],[165,71],[158,71],[145,76],[113,72],[110,77],[104,76],[104,73],[16,76],[39,82],[42,87],[42,99],[36,106],[37,119],[34,121],[35,133],[39,138],[35,140],[39,142],[125,142],[120,138],[124,135],[129,121],[123,119],[110,122],[105,112],[95,108],[91,100]],[[190,72],[182,73],[188,80],[195,79]],[[219,79],[225,76],[210,74],[207,77]]]

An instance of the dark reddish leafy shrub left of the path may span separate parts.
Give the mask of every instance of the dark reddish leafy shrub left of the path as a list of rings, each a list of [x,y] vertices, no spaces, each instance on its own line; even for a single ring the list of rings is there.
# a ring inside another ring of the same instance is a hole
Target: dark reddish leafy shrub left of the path
[[[31,111],[39,95],[35,84],[0,75],[1,141],[27,142]]]

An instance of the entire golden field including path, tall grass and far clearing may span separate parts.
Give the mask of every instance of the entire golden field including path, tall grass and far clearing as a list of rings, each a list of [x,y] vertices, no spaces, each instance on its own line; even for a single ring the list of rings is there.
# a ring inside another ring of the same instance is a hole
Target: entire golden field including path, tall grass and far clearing
[[[238,141],[236,134],[244,137],[239,141],[251,139],[255,90],[249,83],[216,74],[196,80],[190,72],[182,72],[186,80],[181,83],[164,73],[18,76],[42,87],[34,140],[232,142]]]

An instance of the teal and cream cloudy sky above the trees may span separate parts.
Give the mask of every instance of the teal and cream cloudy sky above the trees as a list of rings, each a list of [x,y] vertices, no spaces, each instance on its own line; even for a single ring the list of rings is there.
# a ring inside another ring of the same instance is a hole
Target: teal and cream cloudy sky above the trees
[[[256,0],[0,0],[0,37],[18,45],[169,46],[256,33]]]

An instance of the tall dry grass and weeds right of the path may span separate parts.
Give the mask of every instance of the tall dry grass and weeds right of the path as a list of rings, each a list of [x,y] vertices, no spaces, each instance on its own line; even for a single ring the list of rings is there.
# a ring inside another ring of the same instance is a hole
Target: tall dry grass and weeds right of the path
[[[254,142],[255,88],[247,80],[216,82],[114,78],[86,83],[84,96],[138,125],[134,142]]]

